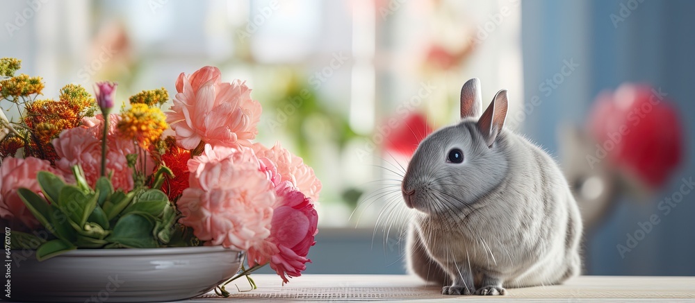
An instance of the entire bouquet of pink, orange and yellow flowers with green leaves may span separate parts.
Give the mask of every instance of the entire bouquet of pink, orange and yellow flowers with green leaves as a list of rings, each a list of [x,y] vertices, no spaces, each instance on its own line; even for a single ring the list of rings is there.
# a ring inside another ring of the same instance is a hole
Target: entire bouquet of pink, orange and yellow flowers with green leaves
[[[232,279],[270,264],[286,283],[306,268],[321,183],[279,144],[253,142],[261,104],[245,82],[203,67],[179,75],[166,112],[161,88],[111,114],[115,83],[97,83],[94,96],[70,84],[42,99],[42,78],[19,68],[0,59],[0,218],[15,248],[42,260],[80,248],[222,245],[247,252]],[[7,119],[10,108],[19,119]]]

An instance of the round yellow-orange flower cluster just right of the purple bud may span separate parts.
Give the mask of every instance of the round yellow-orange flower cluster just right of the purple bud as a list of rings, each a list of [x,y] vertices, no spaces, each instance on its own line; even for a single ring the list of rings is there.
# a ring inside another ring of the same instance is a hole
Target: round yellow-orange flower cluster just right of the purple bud
[[[149,148],[159,140],[168,125],[162,110],[136,103],[121,113],[121,121],[116,127],[122,137],[138,142],[142,148]]]

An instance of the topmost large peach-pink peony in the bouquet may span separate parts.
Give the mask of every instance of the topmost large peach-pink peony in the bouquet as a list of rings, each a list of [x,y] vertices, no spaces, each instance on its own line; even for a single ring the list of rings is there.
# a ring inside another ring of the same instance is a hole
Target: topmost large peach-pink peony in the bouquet
[[[251,99],[245,82],[222,83],[217,67],[203,67],[186,77],[179,75],[178,94],[167,112],[167,123],[177,143],[188,150],[200,141],[213,145],[248,146],[256,137],[261,103]]]

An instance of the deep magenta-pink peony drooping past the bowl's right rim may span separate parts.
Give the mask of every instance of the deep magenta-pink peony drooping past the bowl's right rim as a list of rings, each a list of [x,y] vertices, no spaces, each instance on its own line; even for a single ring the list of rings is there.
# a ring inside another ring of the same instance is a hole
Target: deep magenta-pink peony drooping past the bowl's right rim
[[[273,207],[270,236],[249,249],[249,266],[270,261],[270,268],[287,283],[285,275],[299,277],[306,269],[306,262],[310,262],[306,255],[316,243],[318,214],[311,199],[290,182],[282,182],[275,191],[277,200]]]

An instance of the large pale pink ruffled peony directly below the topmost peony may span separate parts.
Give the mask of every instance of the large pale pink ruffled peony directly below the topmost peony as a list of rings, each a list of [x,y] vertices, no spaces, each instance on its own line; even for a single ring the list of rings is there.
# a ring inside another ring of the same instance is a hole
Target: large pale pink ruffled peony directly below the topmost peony
[[[177,207],[183,225],[211,245],[247,250],[270,235],[275,192],[249,148],[211,147],[188,160],[190,187]]]

